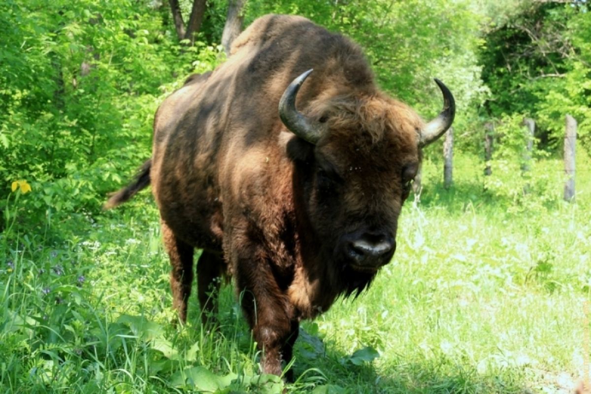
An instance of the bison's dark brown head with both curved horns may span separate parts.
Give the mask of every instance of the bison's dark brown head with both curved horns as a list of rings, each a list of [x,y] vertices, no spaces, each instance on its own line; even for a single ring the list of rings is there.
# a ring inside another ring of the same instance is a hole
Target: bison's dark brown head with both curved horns
[[[420,149],[435,141],[454,118],[454,100],[436,80],[444,110],[424,123],[408,106],[381,93],[332,97],[296,110],[296,95],[310,71],[285,90],[284,125],[314,236],[330,261],[346,274],[348,292],[365,288],[396,249],[398,216],[417,174]]]

